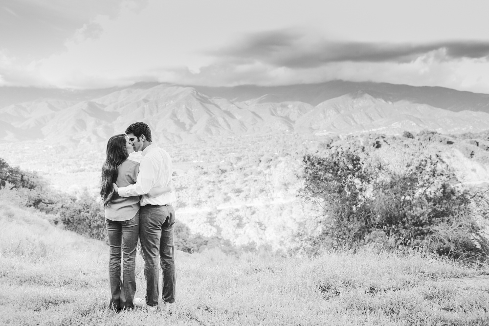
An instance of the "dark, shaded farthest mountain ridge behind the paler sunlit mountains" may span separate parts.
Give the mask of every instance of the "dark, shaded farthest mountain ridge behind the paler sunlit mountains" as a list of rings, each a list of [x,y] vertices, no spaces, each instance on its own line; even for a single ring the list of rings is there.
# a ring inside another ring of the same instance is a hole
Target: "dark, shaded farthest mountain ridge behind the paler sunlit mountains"
[[[458,91],[440,86],[411,86],[405,84],[351,82],[332,80],[313,84],[293,84],[283,86],[200,86],[185,84],[169,84],[159,82],[137,82],[125,87],[106,89],[65,90],[56,88],[35,87],[0,87],[0,108],[5,106],[43,98],[71,99],[83,101],[102,97],[120,90],[145,90],[156,86],[190,87],[209,97],[222,97],[231,101],[244,102],[262,97],[264,103],[285,101],[301,101],[317,105],[327,99],[347,93],[363,91],[374,97],[387,101],[406,99],[413,103],[429,104],[434,107],[451,111],[484,111],[489,113],[489,94]],[[489,92],[489,90],[488,90]]]

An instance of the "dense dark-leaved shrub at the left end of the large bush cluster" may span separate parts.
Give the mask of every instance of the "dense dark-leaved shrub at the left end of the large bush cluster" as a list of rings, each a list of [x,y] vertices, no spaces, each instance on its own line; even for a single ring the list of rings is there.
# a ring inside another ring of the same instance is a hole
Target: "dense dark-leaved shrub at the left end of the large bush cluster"
[[[324,215],[321,239],[332,238],[336,246],[352,247],[363,239],[371,224],[372,212],[366,201],[369,173],[360,151],[338,148],[326,157],[305,155],[305,183],[301,195],[321,205]]]

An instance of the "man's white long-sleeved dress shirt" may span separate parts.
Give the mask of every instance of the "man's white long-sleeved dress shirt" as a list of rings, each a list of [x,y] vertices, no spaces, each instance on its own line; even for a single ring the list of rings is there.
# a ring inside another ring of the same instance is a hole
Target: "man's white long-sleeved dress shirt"
[[[126,187],[120,187],[117,193],[121,197],[141,196],[139,204],[145,206],[167,205],[175,202],[177,198],[173,192],[165,192],[154,198],[149,198],[146,194],[155,187],[166,187],[172,180],[173,165],[170,155],[163,149],[151,144],[142,152],[142,159],[139,163],[139,174],[136,183]]]

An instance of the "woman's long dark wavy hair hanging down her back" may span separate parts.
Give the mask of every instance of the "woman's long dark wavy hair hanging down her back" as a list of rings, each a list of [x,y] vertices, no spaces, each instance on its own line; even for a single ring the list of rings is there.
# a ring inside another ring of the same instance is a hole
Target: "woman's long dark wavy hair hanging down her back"
[[[129,156],[124,136],[126,135],[112,136],[107,142],[107,159],[102,166],[102,177],[100,178],[100,197],[102,197],[104,207],[109,206],[114,195],[112,183],[117,181],[117,169]]]

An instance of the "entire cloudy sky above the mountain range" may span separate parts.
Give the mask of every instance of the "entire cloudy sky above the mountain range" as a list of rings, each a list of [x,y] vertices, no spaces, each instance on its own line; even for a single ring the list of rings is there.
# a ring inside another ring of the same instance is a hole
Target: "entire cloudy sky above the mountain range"
[[[1,0],[0,85],[332,79],[489,93],[489,1]]]

